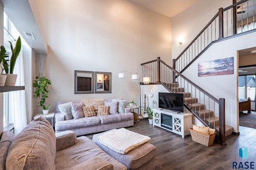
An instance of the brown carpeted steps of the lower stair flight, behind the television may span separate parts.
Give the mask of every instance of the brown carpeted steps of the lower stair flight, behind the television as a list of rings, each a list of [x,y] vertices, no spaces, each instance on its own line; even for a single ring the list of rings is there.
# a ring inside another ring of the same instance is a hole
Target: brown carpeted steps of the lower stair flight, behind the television
[[[217,131],[219,131],[219,117],[216,117],[214,115],[214,111],[207,110],[206,105],[204,103],[199,103],[198,98],[191,97],[190,92],[184,92],[184,88],[179,87],[178,83],[170,83],[166,84],[165,87],[170,92],[174,93],[183,93],[184,94],[184,105],[187,107],[191,107],[194,110],[196,110],[198,113],[200,113],[200,117],[202,117],[204,120],[207,118],[210,120],[208,123],[215,127]],[[170,87],[170,88],[169,88]],[[225,136],[231,135],[233,131],[232,126],[225,125]]]

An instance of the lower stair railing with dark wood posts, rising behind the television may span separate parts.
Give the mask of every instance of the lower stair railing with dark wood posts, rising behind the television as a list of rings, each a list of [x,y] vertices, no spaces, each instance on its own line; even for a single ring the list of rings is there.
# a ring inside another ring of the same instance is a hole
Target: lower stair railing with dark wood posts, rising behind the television
[[[225,143],[225,99],[216,99],[180,72],[157,57],[156,60],[142,63],[142,75],[150,77],[150,84],[162,84],[171,93],[184,93],[184,106],[205,126],[216,129],[215,115],[219,116],[217,142]],[[189,98],[192,97],[192,100]],[[198,99],[198,104],[195,98]],[[213,113],[212,113],[213,111]],[[214,114],[213,120],[210,114]],[[212,122],[212,123],[210,123]]]

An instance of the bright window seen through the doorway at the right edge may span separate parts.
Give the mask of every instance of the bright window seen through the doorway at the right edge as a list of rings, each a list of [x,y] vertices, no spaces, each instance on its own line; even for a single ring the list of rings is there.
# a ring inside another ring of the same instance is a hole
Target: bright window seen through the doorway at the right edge
[[[238,76],[238,98],[255,99],[255,75]]]

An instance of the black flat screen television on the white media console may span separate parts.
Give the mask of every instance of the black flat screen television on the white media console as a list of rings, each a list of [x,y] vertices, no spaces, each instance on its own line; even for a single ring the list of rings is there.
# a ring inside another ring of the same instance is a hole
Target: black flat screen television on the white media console
[[[176,112],[184,112],[184,97],[182,93],[159,92],[158,107]]]

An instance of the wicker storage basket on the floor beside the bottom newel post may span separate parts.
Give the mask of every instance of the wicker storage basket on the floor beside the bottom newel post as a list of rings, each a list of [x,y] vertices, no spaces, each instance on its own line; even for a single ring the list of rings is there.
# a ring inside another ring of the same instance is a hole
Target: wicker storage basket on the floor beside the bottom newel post
[[[208,135],[206,133],[195,131],[192,128],[190,128],[189,131],[192,137],[192,141],[205,145],[206,147],[209,147],[210,145],[213,144],[215,135],[217,133],[217,132],[214,132],[213,134]]]

